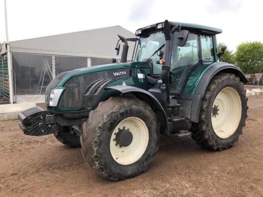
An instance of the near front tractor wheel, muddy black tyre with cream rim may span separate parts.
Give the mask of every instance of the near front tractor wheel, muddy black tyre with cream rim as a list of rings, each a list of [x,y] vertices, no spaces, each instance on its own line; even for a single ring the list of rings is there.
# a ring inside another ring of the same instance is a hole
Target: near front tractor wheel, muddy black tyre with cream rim
[[[101,176],[126,179],[145,171],[158,150],[159,123],[144,101],[111,97],[100,102],[83,124],[85,161]]]

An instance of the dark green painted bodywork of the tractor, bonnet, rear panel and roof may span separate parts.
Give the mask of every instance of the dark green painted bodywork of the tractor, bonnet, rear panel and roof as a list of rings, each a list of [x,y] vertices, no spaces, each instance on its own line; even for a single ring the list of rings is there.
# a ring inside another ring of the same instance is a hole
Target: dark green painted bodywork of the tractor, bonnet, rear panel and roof
[[[215,55],[217,54],[216,34],[222,33],[222,30],[217,28],[202,26],[202,25],[196,25],[196,24],[177,23],[177,22],[174,22],[174,24],[175,25],[180,24],[182,27],[189,30],[199,31],[201,33],[209,32],[213,34],[212,36],[213,36],[215,62],[199,63],[196,66],[194,66],[193,69],[190,71],[189,75],[187,76],[187,79],[185,81],[185,84],[181,92],[181,95],[194,95],[194,92],[203,74],[206,72],[207,69],[217,64],[216,62],[218,62],[218,56]],[[61,81],[58,82],[56,88],[63,88],[64,89],[63,93],[64,93],[66,89],[65,84],[73,77],[102,72],[102,71],[106,72],[109,70],[116,70],[116,69],[121,71],[121,69],[134,68],[135,70],[134,76],[122,78],[119,80],[113,80],[112,82],[107,84],[106,87],[121,86],[123,85],[124,82],[127,86],[133,86],[148,91],[151,87],[153,87],[152,84],[148,83],[146,77],[148,74],[150,74],[150,67],[151,65],[148,62],[130,62],[130,63],[109,64],[109,65],[92,66],[92,67],[76,69],[75,71],[68,73],[64,78],[62,78]],[[144,78],[138,78],[138,73],[142,73],[144,75]],[[114,90],[103,90],[99,98],[97,98],[98,100],[97,104],[100,101],[106,100],[109,97],[111,97],[113,95],[113,92]],[[63,93],[61,94],[60,99],[62,98]],[[92,104],[89,106],[83,105],[81,108],[65,108],[65,107],[63,108],[59,106],[59,102],[56,107],[49,107],[49,109],[52,109],[54,111],[81,111],[81,110],[91,110],[96,107],[95,104]]]

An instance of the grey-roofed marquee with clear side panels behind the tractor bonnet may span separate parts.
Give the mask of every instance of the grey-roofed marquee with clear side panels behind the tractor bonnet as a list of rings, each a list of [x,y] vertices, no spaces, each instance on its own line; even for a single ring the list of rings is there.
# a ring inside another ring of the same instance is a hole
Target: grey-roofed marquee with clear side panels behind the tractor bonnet
[[[120,27],[64,33],[9,42],[0,48],[0,103],[44,102],[45,88],[56,75],[75,68],[111,64],[117,34],[134,33]],[[130,44],[131,60],[134,45]],[[120,47],[122,48],[122,47]],[[9,64],[8,64],[9,63]]]

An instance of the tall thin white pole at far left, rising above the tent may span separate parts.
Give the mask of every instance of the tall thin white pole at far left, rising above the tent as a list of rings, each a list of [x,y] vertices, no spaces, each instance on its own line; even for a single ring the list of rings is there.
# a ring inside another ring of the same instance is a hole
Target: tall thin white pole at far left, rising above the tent
[[[4,0],[4,14],[5,14],[5,32],[6,32],[7,66],[8,66],[8,82],[9,82],[9,102],[12,104],[13,103],[12,66],[11,66],[11,53],[10,53],[10,46],[8,39],[6,0]]]

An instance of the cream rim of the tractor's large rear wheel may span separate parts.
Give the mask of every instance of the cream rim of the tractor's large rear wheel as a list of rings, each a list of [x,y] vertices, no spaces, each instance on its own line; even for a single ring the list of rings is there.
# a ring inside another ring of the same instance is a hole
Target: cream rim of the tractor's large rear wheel
[[[242,104],[238,92],[231,87],[222,89],[214,100],[211,112],[213,130],[221,138],[230,137],[238,128],[241,114]]]

